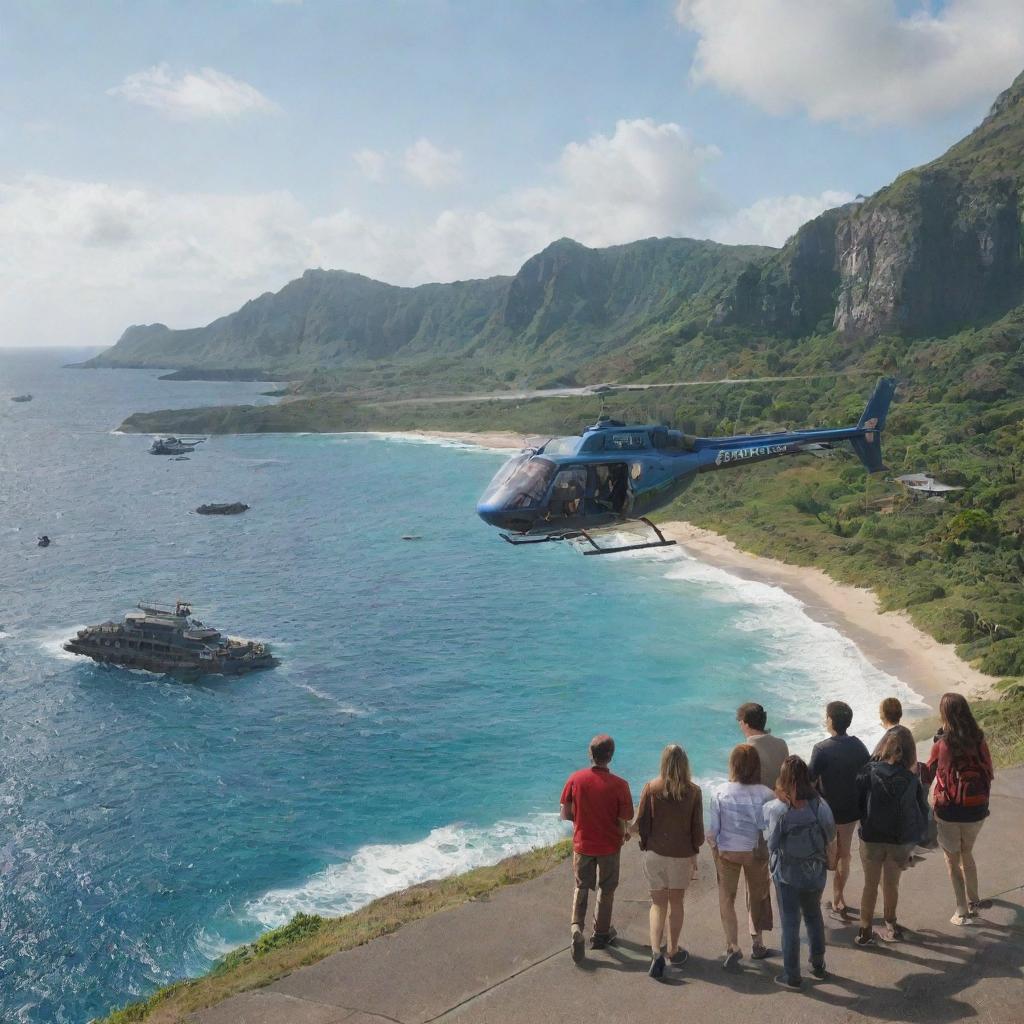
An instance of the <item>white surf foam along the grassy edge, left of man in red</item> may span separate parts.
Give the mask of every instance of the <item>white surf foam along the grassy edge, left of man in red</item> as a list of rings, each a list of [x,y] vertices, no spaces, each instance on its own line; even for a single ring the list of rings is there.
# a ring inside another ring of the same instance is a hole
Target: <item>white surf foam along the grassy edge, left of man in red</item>
[[[444,825],[415,843],[364,846],[349,860],[331,864],[294,888],[273,889],[246,904],[244,923],[278,928],[299,911],[338,915],[429,879],[493,864],[566,835],[556,814],[499,821],[489,828]],[[219,938],[207,935],[211,948]]]

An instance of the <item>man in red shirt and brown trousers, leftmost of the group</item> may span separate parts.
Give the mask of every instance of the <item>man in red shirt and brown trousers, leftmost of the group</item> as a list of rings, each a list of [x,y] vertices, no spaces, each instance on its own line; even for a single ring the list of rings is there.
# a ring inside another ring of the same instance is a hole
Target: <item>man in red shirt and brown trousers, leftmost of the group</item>
[[[633,798],[629,783],[608,771],[615,741],[601,734],[590,741],[590,768],[568,777],[562,788],[561,814],[572,822],[572,959],[584,958],[583,929],[587,921],[587,899],[597,889],[594,937],[591,947],[603,949],[615,937],[611,907],[618,885],[618,853],[629,839],[627,825],[633,818]]]

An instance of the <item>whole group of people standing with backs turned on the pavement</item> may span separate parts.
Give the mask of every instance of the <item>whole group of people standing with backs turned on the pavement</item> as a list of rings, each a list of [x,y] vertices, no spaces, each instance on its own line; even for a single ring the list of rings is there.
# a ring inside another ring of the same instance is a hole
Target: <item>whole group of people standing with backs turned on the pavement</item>
[[[740,878],[750,955],[772,955],[766,935],[774,928],[774,888],[782,952],[782,972],[775,981],[785,988],[799,989],[803,982],[801,921],[810,972],[818,979],[827,977],[821,899],[829,872],[829,914],[844,924],[855,922],[846,899],[855,831],[863,869],[856,945],[871,945],[878,937],[873,925],[880,887],[881,938],[903,938],[896,916],[901,873],[913,862],[919,846],[936,841],[956,901],[951,923],[970,925],[980,909],[991,905],[979,895],[973,854],[988,816],[993,778],[988,746],[970,705],[958,693],[946,693],[940,701],[941,728],[927,762],[918,760],[913,736],[900,724],[902,714],[896,697],[882,701],[880,720],[886,731],[869,752],[849,733],[849,705],[833,701],[825,708],[828,736],[805,762],[768,731],[761,705],[740,706],[736,721],[745,741],[729,755],[729,779],[711,795],[707,824],[703,795],[691,778],[682,746],[665,748],[658,774],[644,785],[634,813],[629,783],[608,768],[614,741],[595,736],[591,766],[570,775],[561,795],[561,815],[573,824],[572,959],[580,964],[586,955],[587,905],[595,890],[591,947],[600,949],[615,939],[611,916],[620,853],[634,835],[650,890],[648,973],[655,979],[665,975],[669,964],[680,966],[688,958],[680,945],[684,902],[706,842],[718,880],[723,967],[732,968],[743,957],[736,911]]]

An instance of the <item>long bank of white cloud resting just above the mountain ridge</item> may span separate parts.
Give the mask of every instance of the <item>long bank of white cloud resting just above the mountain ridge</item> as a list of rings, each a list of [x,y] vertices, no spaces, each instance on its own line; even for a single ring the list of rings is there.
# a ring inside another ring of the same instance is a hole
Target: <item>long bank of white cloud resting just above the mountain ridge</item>
[[[102,344],[129,324],[209,323],[312,266],[399,285],[513,273],[560,236],[778,245],[841,193],[744,210],[708,180],[718,159],[682,128],[621,121],[564,147],[547,180],[419,219],[319,214],[287,191],[165,191],[25,177],[0,181],[0,323],[8,344]]]

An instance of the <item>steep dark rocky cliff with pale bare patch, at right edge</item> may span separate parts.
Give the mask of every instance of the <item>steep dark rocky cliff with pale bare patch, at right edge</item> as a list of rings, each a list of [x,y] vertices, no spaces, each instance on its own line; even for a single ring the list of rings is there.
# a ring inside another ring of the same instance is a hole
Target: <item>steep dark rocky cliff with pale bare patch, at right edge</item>
[[[1024,298],[1024,76],[938,160],[805,224],[718,317],[790,336],[949,334]]]

